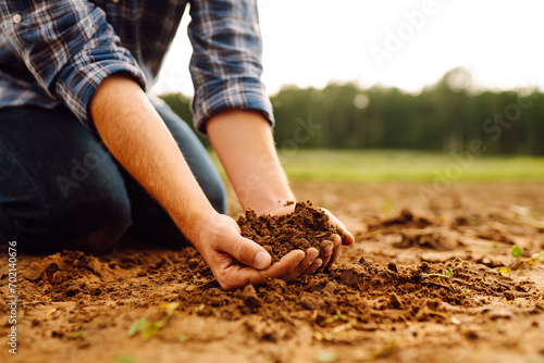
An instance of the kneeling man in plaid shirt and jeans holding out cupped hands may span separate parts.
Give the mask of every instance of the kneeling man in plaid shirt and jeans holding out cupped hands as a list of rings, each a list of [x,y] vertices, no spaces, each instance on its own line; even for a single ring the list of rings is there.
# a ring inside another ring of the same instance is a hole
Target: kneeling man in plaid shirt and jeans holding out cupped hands
[[[188,2],[196,126],[244,209],[292,211],[260,80],[255,1],[0,1],[0,240],[101,253],[131,226],[156,239],[185,236],[225,289],[312,274],[354,242],[330,214],[344,238],[326,241],[323,259],[309,249],[271,265],[222,214],[224,188],[206,150],[145,93]]]

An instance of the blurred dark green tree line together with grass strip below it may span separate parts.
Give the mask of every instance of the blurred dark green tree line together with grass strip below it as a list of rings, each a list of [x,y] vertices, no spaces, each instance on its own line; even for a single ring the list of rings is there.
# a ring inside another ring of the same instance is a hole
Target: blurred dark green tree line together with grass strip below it
[[[544,93],[475,92],[470,79],[455,68],[418,95],[355,84],[282,89],[271,102],[287,174],[321,182],[544,180]],[[193,127],[188,97],[161,97]]]

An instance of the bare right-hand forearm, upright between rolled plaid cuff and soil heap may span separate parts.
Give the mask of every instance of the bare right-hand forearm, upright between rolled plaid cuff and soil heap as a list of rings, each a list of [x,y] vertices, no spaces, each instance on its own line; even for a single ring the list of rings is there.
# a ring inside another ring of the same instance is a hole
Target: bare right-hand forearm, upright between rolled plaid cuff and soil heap
[[[269,213],[295,199],[270,125],[260,113],[228,110],[214,115],[206,126],[244,210],[249,206]]]

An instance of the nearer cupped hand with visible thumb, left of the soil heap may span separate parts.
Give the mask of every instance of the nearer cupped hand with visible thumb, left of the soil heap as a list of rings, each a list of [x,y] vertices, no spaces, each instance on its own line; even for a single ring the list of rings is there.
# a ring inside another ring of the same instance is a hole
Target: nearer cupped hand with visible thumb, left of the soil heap
[[[227,215],[211,216],[200,230],[198,240],[194,240],[195,247],[225,290],[264,284],[268,277],[289,280],[301,274],[313,274],[322,264],[319,251],[310,248],[306,253],[292,251],[271,265],[270,254],[258,243],[242,237],[238,225]],[[247,266],[235,264],[235,260]]]

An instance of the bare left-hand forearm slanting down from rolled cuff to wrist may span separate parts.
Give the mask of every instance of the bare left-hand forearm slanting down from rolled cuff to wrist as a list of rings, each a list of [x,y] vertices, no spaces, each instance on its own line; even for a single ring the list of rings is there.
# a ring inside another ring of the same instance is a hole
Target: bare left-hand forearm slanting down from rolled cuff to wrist
[[[139,86],[123,76],[108,77],[90,112],[110,152],[196,242],[200,224],[215,212]]]

